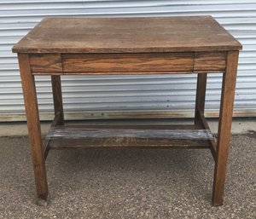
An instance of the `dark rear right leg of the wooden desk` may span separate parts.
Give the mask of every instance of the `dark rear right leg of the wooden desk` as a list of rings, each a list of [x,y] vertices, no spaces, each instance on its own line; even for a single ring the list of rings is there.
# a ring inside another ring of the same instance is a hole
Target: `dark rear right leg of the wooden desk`
[[[207,73],[198,73],[195,99],[195,124],[201,124],[200,112],[204,113],[205,111],[206,89]]]

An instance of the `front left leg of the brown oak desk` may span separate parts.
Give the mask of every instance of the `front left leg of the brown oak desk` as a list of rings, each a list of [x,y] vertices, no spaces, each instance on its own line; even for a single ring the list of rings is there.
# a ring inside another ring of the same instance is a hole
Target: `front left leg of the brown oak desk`
[[[38,114],[38,100],[34,76],[32,75],[29,57],[27,54],[19,54],[20,78],[22,83],[24,102],[26,108],[26,121],[28,135],[31,141],[32,163],[39,199],[47,199],[48,186],[41,138],[41,126]]]

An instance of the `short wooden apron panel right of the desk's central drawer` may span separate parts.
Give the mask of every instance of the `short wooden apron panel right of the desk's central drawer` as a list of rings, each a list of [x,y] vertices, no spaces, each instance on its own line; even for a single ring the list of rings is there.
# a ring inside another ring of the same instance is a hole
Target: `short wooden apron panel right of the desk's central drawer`
[[[195,52],[194,71],[224,71],[226,57],[226,52]]]

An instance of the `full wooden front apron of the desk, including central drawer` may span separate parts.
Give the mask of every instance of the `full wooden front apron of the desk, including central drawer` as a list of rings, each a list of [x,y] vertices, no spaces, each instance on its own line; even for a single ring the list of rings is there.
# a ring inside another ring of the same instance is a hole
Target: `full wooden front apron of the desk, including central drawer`
[[[32,54],[34,75],[224,72],[226,52]]]

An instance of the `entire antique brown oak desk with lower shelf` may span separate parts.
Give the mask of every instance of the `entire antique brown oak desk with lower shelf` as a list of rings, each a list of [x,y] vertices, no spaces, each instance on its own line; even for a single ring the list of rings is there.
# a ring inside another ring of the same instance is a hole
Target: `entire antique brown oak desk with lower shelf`
[[[222,205],[240,49],[241,44],[211,16],[42,20],[13,48],[20,64],[38,198],[48,197],[44,162],[49,149],[209,148],[215,161],[212,203]],[[204,116],[204,103],[207,73],[217,72],[223,73],[223,84],[216,140]],[[197,74],[194,125],[64,125],[61,76],[172,73]],[[55,107],[44,142],[37,75],[51,76]]]

